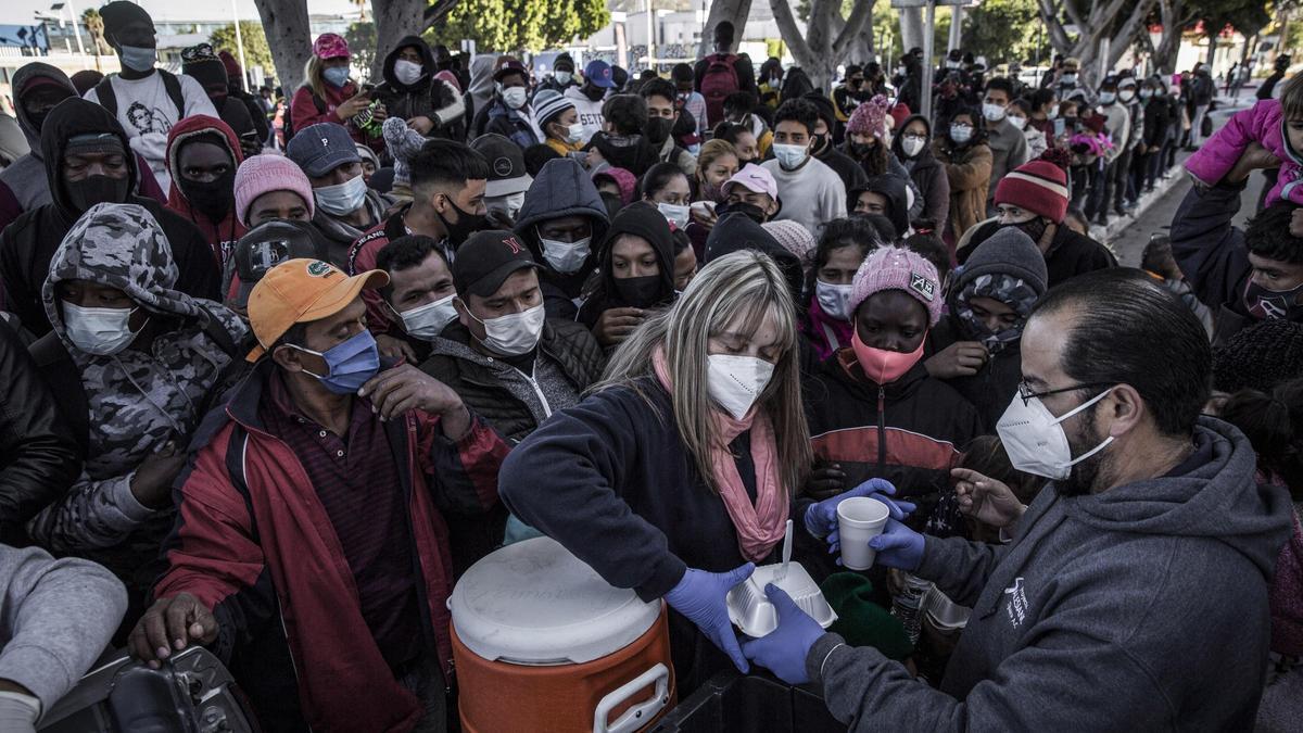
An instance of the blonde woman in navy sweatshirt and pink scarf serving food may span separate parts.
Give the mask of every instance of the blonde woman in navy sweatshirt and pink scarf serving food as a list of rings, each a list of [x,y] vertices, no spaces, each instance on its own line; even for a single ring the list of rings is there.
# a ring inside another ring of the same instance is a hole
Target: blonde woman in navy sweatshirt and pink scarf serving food
[[[721,257],[502,468],[516,516],[612,586],[666,600],[680,694],[730,659],[748,668],[724,596],[774,560],[787,519],[826,536],[839,501],[880,486],[795,500],[812,460],[795,313],[769,257]]]

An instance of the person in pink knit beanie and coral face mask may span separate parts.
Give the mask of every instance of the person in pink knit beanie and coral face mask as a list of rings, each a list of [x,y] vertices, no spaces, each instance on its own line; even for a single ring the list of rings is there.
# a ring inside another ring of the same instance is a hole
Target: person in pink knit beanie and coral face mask
[[[869,479],[917,506],[912,523],[962,533],[950,468],[982,434],[977,411],[923,365],[941,318],[941,280],[921,256],[891,245],[869,253],[851,283],[851,343],[805,382],[805,421],[816,468],[807,489],[835,496]]]

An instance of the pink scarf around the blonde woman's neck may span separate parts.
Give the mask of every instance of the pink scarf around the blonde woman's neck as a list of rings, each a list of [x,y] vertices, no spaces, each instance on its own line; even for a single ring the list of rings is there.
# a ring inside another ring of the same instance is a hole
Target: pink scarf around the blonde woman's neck
[[[670,381],[670,368],[665,361],[665,351],[657,347],[652,355],[655,366],[655,376],[661,386],[674,394],[674,382]],[[778,477],[778,450],[774,445],[774,430],[769,424],[769,415],[752,407],[741,420],[735,420],[732,415],[722,410],[711,410],[715,434],[719,441],[710,447],[711,476],[719,498],[724,502],[728,519],[737,532],[737,549],[743,557],[753,562],[769,557],[774,545],[783,539],[787,531],[787,500],[779,490]],[[747,496],[747,486],[737,473],[737,463],[732,451],[728,450],[737,436],[751,430],[751,459],[756,466],[756,503],[751,503]]]

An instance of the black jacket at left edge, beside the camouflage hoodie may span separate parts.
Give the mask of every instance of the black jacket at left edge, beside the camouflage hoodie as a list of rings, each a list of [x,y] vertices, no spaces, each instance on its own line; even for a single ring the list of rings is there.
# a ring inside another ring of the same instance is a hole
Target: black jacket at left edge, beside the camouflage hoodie
[[[23,527],[81,475],[72,428],[8,323],[0,325],[0,543],[27,544]]]

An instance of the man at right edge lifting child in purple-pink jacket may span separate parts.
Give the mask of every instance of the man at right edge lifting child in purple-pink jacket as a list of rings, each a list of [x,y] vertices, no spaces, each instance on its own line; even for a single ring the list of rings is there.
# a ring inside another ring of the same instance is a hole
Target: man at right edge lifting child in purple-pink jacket
[[[1278,201],[1240,230],[1248,176],[1274,166],[1276,157],[1250,145],[1213,187],[1194,187],[1171,219],[1171,253],[1186,282],[1214,310],[1213,343],[1226,343],[1255,322],[1303,322],[1303,209]]]

